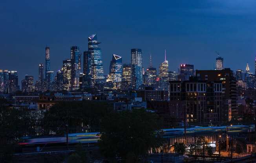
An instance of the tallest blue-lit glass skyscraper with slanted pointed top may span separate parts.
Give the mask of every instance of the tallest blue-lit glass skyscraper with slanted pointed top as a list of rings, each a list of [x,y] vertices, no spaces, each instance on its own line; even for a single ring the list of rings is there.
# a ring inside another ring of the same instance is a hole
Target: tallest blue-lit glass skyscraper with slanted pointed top
[[[92,86],[95,83],[102,83],[104,80],[102,53],[99,43],[96,34],[89,36],[88,51],[84,52],[84,74],[91,76]]]

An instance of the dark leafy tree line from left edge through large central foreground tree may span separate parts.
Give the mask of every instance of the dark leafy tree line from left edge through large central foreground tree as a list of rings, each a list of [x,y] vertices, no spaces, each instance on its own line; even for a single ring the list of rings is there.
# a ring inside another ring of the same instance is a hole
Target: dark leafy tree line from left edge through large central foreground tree
[[[41,115],[0,105],[0,136],[7,144],[15,144],[22,136],[62,135],[68,125],[69,133],[101,132],[102,155],[131,163],[145,160],[151,148],[163,144],[162,124],[154,113],[144,109],[116,112],[106,101],[60,102]],[[70,161],[83,157],[79,151],[69,158]]]

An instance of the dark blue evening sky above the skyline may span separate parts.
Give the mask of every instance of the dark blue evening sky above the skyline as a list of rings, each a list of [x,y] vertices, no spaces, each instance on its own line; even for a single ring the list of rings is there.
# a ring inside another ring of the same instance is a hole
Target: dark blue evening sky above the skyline
[[[70,47],[87,50],[88,35],[96,33],[104,74],[112,54],[130,62],[130,49],[141,48],[143,65],[152,53],[154,67],[164,61],[170,70],[180,63],[213,69],[218,51],[224,66],[254,71],[256,54],[254,0],[1,0],[0,69],[18,70],[38,78],[44,47],[51,48],[51,70],[70,57]]]

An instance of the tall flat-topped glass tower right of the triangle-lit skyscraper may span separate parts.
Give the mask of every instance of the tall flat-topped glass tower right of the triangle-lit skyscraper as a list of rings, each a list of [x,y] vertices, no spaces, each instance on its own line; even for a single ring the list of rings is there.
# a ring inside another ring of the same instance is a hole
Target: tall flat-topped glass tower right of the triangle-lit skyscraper
[[[131,49],[132,88],[138,89],[143,83],[141,49]]]

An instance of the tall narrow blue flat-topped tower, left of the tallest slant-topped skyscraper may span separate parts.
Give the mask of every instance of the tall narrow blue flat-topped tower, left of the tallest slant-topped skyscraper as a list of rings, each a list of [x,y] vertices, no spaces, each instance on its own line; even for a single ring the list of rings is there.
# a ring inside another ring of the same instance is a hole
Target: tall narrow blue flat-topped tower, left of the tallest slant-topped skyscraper
[[[79,53],[79,47],[73,46],[70,49],[70,58],[71,58],[71,85],[72,90],[79,89],[79,74],[81,71],[81,56]]]

